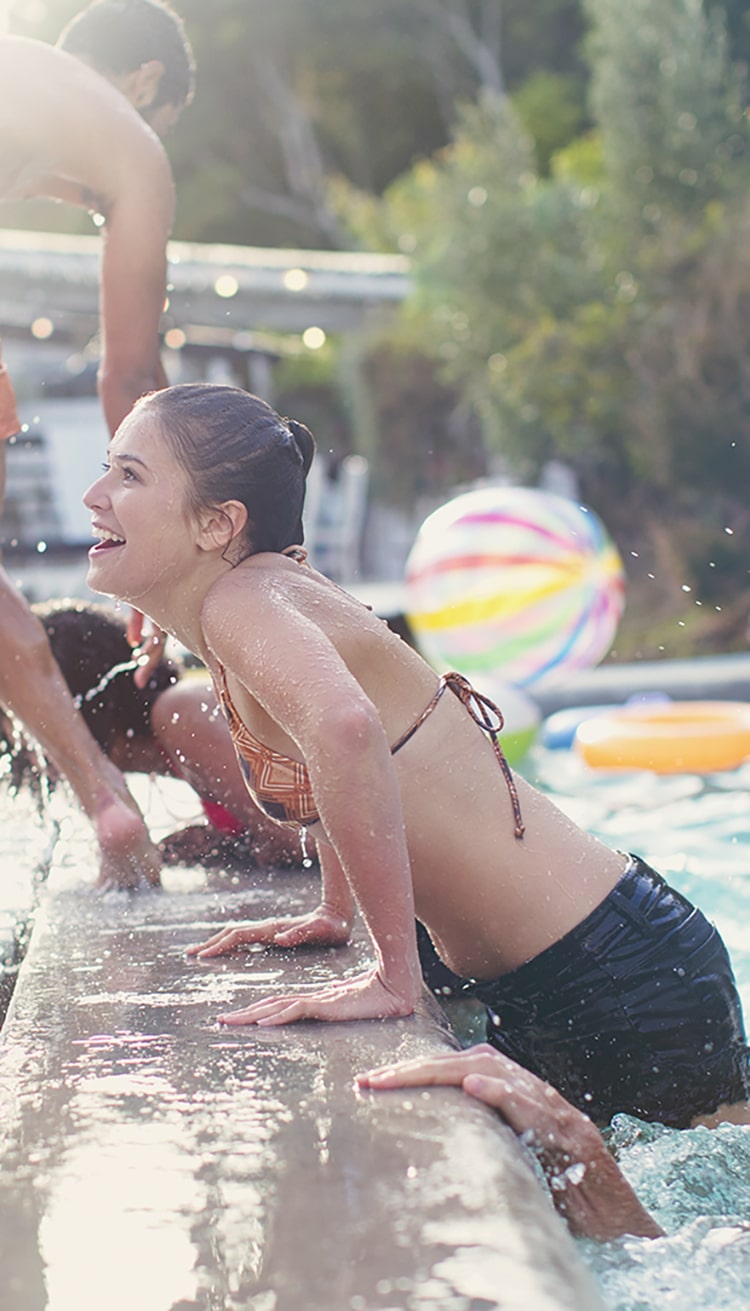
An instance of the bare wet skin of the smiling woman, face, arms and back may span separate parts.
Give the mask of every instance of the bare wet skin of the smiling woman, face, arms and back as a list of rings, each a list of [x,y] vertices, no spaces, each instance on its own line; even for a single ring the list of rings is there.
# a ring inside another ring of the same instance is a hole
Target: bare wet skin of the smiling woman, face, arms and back
[[[244,507],[226,502],[220,515],[195,515],[189,490],[148,404],[139,406],[85,497],[100,536],[89,583],[144,610],[214,674],[224,666],[248,729],[304,759],[321,817],[312,832],[324,895],[312,915],[287,927],[295,941],[341,941],[357,901],[378,952],[363,979],[269,998],[223,1019],[266,1025],[409,1013],[421,986],[414,906],[456,973],[490,978],[549,945],[607,895],[624,856],[521,779],[526,836],[514,836],[492,746],[452,694],[391,756],[389,743],[435,690],[433,670],[315,570],[281,555],[235,565]],[[245,926],[241,939],[228,932],[203,953],[240,940],[278,941],[285,927],[274,919]]]

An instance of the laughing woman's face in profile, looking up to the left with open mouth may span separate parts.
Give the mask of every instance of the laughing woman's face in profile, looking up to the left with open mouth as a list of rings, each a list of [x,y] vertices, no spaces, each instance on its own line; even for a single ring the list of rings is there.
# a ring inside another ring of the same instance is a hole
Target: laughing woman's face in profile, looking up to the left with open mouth
[[[197,556],[188,479],[148,406],[118,427],[84,505],[100,539],[89,551],[89,587],[148,614],[146,600],[168,598]]]

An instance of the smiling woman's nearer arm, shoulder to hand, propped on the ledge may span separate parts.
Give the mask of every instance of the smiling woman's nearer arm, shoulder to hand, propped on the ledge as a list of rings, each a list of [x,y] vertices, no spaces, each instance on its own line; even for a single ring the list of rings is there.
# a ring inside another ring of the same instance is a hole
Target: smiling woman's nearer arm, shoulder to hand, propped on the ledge
[[[286,595],[253,589],[248,607],[247,578],[228,576],[208,598],[203,623],[239,713],[245,690],[250,713],[257,703],[306,762],[332,847],[323,857],[324,877],[329,886],[336,877],[338,898],[346,881],[376,949],[376,966],[366,975],[312,995],[267,999],[243,1011],[241,1021],[229,1019],[283,1024],[409,1015],[422,987],[412,873],[399,783],[376,708],[325,633]]]

